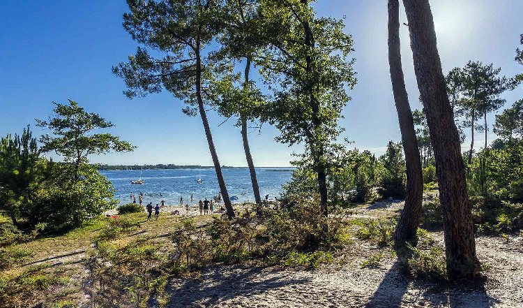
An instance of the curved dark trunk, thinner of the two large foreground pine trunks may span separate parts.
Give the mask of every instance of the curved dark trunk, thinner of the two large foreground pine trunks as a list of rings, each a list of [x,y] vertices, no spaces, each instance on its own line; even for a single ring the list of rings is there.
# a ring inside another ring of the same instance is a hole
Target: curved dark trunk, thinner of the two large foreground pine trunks
[[[405,89],[400,50],[400,2],[388,0],[388,64],[391,71],[397,118],[400,122],[405,162],[407,163],[407,198],[394,233],[395,244],[415,240],[423,199],[423,173],[414,130],[409,96]]]

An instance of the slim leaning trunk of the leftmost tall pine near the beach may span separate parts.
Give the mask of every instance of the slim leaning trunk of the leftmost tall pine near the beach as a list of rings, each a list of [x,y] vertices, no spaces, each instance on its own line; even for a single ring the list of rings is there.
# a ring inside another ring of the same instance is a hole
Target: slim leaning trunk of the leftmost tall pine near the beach
[[[196,97],[198,100],[198,109],[199,114],[202,117],[202,122],[204,124],[205,135],[207,137],[207,142],[209,143],[209,151],[211,151],[211,156],[213,158],[214,169],[216,170],[216,177],[218,177],[218,184],[220,185],[220,192],[222,193],[223,203],[225,203],[225,208],[227,209],[227,215],[229,219],[234,217],[234,210],[232,209],[231,199],[229,198],[229,192],[227,192],[227,186],[225,186],[225,179],[223,179],[222,166],[218,160],[218,154],[216,154],[216,149],[214,147],[213,135],[211,134],[211,129],[209,128],[209,121],[207,121],[207,115],[204,108],[204,101],[202,100],[202,59],[199,54],[199,41],[197,42],[196,47]]]

